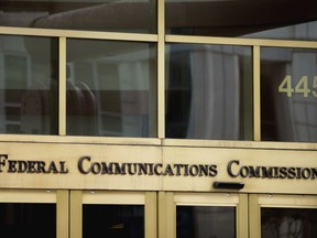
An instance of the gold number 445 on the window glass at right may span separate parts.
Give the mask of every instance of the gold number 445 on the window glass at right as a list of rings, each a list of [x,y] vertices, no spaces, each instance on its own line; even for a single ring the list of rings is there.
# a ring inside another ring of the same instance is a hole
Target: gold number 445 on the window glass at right
[[[308,97],[309,94],[313,94],[314,97],[317,97],[317,76],[314,77],[311,87],[313,88],[310,89],[308,85],[308,77],[303,76],[294,88],[292,86],[291,75],[286,75],[278,85],[278,93],[286,94],[287,97],[292,97],[294,93],[303,94],[304,97]]]

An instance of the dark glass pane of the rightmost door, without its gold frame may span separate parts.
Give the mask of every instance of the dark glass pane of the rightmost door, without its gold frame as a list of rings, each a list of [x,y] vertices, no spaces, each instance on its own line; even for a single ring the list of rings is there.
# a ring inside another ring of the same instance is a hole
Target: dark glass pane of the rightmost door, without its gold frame
[[[317,237],[317,209],[261,208],[262,238]]]

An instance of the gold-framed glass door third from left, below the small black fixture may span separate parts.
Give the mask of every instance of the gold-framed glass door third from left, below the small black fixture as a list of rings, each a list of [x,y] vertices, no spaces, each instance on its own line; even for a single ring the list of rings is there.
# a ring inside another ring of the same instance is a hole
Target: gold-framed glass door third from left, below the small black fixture
[[[160,238],[248,237],[248,195],[162,193]],[[164,219],[165,217],[165,219]]]

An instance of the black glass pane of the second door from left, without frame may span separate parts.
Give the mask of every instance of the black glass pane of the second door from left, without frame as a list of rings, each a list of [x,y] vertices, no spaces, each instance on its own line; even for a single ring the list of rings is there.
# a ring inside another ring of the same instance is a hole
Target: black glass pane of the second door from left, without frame
[[[84,205],[83,238],[143,238],[143,205]]]

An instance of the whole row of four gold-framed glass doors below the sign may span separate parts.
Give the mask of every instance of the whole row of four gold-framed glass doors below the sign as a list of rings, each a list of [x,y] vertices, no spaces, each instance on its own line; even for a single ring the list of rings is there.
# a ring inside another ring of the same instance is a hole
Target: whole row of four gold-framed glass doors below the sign
[[[12,238],[315,238],[317,196],[1,190],[0,221]]]

